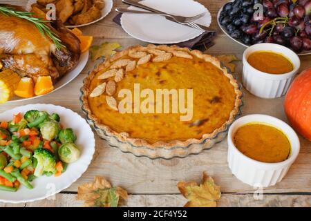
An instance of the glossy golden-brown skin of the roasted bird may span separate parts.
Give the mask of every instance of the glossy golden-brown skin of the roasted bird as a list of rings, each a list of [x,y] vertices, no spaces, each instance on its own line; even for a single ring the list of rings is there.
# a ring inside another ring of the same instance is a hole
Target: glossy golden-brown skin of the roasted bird
[[[23,10],[17,6],[17,10]],[[66,48],[56,48],[30,21],[0,13],[0,61],[21,77],[50,75],[56,81],[72,70],[79,61],[79,39],[60,21],[48,23]]]

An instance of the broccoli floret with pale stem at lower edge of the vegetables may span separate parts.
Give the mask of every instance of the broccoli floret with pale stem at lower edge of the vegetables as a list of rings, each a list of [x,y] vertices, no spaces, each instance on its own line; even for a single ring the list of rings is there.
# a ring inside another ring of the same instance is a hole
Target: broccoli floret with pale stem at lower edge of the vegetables
[[[41,176],[44,172],[55,173],[55,156],[45,148],[37,148],[33,155],[37,159],[37,166],[34,175]]]

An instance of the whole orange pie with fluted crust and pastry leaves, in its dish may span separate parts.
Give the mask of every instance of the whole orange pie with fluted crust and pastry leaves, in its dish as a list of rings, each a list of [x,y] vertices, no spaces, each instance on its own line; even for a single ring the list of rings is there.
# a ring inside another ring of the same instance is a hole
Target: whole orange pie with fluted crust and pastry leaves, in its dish
[[[192,119],[181,121],[181,113],[171,112],[120,113],[124,97],[118,95],[122,89],[135,94],[134,84],[155,94],[157,89],[192,89]],[[211,148],[227,135],[243,106],[241,86],[218,59],[178,46],[117,52],[86,77],[81,91],[82,110],[102,139],[151,159],[186,157]]]

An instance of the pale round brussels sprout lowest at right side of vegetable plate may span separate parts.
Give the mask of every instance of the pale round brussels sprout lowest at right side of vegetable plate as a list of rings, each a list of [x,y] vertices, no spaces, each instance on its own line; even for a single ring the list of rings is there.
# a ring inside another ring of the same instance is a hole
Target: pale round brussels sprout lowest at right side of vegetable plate
[[[66,143],[62,144],[62,146],[59,146],[58,155],[59,159],[62,160],[62,162],[70,164],[78,160],[80,156],[80,151],[77,146],[75,146],[75,144]]]

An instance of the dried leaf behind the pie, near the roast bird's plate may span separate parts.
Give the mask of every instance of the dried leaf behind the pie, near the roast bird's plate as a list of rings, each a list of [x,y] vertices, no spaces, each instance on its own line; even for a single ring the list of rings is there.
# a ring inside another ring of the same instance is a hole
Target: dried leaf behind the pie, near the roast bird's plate
[[[92,60],[95,61],[100,57],[111,57],[116,53],[116,49],[121,48],[118,43],[104,42],[100,46],[92,46],[90,48],[92,54]]]

